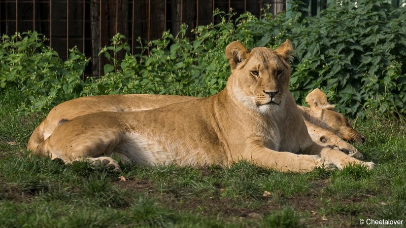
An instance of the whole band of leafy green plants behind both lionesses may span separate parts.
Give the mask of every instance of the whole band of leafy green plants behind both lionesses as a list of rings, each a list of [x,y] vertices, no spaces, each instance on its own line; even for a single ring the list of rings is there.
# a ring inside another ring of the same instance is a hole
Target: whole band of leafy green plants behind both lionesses
[[[0,94],[21,96],[22,111],[40,111],[78,96],[155,93],[209,96],[221,90],[229,75],[227,44],[248,48],[277,47],[290,39],[296,49],[291,91],[298,103],[321,88],[339,111],[349,116],[398,116],[406,113],[406,8],[384,1],[330,1],[319,17],[307,16],[293,2],[290,17],[250,13],[193,29],[195,40],[164,32],[162,39],[137,47],[130,55],[123,36],[113,37],[100,55],[111,61],[100,79],[82,81],[87,59],[76,48],[61,61],[36,32],[3,36],[0,44]],[[267,12],[267,11],[265,11]],[[16,40],[18,38],[18,40]],[[117,53],[125,52],[123,59]],[[7,98],[8,97],[8,98]]]

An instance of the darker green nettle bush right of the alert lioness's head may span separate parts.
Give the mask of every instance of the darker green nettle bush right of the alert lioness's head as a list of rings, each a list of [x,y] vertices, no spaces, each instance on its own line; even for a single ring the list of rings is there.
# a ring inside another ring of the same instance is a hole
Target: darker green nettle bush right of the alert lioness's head
[[[293,90],[321,87],[350,115],[364,109],[404,114],[406,8],[373,0],[358,1],[357,7],[353,1],[331,2],[320,17],[296,13],[292,26],[285,26],[297,50]]]

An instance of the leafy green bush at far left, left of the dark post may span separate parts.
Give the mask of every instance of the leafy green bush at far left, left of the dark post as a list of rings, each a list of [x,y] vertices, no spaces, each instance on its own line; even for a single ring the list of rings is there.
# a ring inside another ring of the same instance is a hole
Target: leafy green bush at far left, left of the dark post
[[[73,48],[63,62],[45,41],[34,31],[3,35],[0,43],[0,94],[18,91],[23,97],[22,111],[48,109],[78,97],[83,88],[81,78],[89,59]]]

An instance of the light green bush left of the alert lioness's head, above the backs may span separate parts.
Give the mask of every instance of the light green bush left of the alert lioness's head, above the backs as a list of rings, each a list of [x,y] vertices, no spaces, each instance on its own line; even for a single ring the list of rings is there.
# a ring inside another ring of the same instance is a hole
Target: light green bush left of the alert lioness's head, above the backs
[[[221,14],[224,16],[224,14]],[[137,47],[141,54],[130,55],[124,36],[116,34],[109,47],[100,54],[111,59],[106,75],[89,83],[82,95],[117,93],[178,94],[209,96],[225,86],[229,75],[224,49],[234,39],[234,25],[225,19],[217,25],[194,29],[195,40],[185,38],[181,26],[177,36],[164,32],[162,39]],[[124,50],[123,60],[114,62],[112,55]]]

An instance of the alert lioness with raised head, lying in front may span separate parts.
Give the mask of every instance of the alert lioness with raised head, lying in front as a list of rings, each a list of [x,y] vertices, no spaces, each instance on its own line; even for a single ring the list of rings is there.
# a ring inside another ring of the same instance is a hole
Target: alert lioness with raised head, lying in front
[[[280,171],[361,164],[313,142],[289,91],[289,41],[278,49],[226,47],[231,75],[214,96],[131,112],[96,112],[66,121],[35,153],[66,163],[87,160],[202,166],[246,160]],[[301,153],[301,154],[299,154]],[[309,155],[308,155],[309,154]]]

